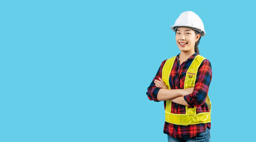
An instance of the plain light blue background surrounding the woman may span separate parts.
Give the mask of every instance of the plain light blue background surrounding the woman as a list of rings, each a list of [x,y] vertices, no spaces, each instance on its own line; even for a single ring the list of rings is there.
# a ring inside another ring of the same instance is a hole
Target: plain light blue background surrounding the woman
[[[167,141],[146,89],[179,53],[170,30],[201,17],[213,80],[211,141],[255,136],[251,1],[1,1],[0,141]]]

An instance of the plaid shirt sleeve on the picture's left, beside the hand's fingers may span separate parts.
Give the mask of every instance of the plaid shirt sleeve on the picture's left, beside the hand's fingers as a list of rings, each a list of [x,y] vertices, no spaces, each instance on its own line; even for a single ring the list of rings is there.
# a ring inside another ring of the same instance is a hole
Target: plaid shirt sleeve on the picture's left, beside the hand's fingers
[[[146,95],[148,95],[148,99],[151,101],[159,102],[157,101],[157,93],[160,90],[160,88],[155,86],[154,80],[158,78],[162,78],[162,69],[163,69],[164,63],[166,63],[166,60],[162,62],[161,66],[157,71],[157,75],[155,75],[155,78],[152,80],[151,84],[148,87],[148,92],[146,92]]]

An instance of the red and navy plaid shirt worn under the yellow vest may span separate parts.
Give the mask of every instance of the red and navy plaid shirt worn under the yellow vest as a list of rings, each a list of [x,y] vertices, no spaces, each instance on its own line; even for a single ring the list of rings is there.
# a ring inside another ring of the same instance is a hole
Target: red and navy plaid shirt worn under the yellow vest
[[[186,77],[186,72],[191,65],[193,59],[196,57],[197,53],[193,54],[182,64],[179,64],[179,54],[176,57],[173,69],[170,73],[170,87],[171,89],[183,89],[184,82]],[[153,101],[157,101],[157,93],[160,88],[155,86],[154,80],[158,78],[162,78],[162,69],[166,63],[164,60],[158,69],[157,75],[151,82],[148,87],[148,98]],[[211,63],[209,60],[205,59],[201,66],[199,66],[198,74],[196,76],[195,89],[190,94],[184,97],[185,101],[188,102],[189,107],[196,106],[196,113],[200,112],[209,112],[208,106],[205,104],[205,99],[207,98],[207,93],[209,89],[209,85],[211,83]],[[166,108],[166,101],[164,101],[164,108]],[[174,114],[186,114],[186,107],[184,105],[179,105],[174,102],[171,103],[171,113]],[[174,138],[183,138],[186,139],[188,137],[195,137],[197,134],[202,133],[206,130],[206,128],[211,128],[211,123],[207,124],[196,124],[196,125],[175,125],[168,122],[164,124],[164,133],[170,135]]]

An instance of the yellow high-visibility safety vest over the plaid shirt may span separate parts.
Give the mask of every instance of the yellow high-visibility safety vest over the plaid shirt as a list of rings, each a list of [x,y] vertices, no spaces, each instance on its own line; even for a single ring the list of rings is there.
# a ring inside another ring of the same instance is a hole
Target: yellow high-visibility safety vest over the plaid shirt
[[[162,79],[168,86],[168,89],[171,89],[170,83],[169,83],[169,77],[170,77],[171,69],[173,68],[175,59],[176,59],[176,56],[168,59],[164,64],[164,67],[162,70]],[[192,88],[195,86],[195,80],[196,80],[198,68],[204,59],[205,58],[202,57],[201,55],[197,55],[195,59],[193,59],[191,66],[189,66],[189,69],[186,72],[184,89]],[[211,101],[208,95],[205,102],[208,108],[210,109],[210,112],[202,112],[202,113],[196,114],[196,107],[188,108],[188,106],[186,106],[186,114],[173,114],[171,113],[171,101],[167,100],[166,111],[165,111],[166,122],[176,124],[176,125],[192,125],[192,124],[211,122]]]

